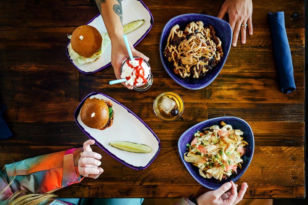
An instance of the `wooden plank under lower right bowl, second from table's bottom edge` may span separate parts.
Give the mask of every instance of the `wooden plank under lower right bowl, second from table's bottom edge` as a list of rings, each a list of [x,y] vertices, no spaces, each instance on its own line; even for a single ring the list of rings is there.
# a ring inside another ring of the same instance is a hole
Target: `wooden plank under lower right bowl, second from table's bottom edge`
[[[303,151],[302,147],[256,147],[251,164],[240,180],[249,181],[249,186],[301,185],[304,175],[298,173],[304,171],[304,156],[301,154]],[[281,156],[285,156],[283,163],[279,163]],[[199,184],[183,166],[176,147],[162,148],[153,164],[146,170],[138,171],[138,175],[134,173],[134,170],[123,167],[123,184],[179,186]],[[275,177],[272,177],[273,175]]]

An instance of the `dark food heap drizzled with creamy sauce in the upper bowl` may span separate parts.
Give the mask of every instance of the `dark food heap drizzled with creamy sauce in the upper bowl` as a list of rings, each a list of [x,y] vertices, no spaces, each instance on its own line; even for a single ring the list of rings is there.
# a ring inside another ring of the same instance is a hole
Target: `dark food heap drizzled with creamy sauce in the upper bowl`
[[[173,62],[176,74],[184,78],[193,73],[193,78],[199,78],[221,60],[221,41],[213,27],[204,28],[201,21],[191,22],[184,31],[179,29],[179,25],[171,29],[165,56]]]

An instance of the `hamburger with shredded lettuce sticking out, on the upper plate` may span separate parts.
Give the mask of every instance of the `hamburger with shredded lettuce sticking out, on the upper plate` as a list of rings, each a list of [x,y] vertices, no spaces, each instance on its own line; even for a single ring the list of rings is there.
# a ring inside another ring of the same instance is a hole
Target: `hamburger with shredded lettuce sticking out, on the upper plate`
[[[100,34],[99,31],[89,25],[76,28],[68,45],[68,53],[71,59],[76,59],[78,65],[96,61],[110,43],[108,34]]]

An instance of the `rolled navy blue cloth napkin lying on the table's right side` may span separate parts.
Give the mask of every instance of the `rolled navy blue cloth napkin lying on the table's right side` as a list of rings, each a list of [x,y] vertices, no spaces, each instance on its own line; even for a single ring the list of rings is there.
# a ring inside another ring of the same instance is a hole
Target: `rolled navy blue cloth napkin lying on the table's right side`
[[[291,93],[296,89],[291,50],[285,27],[285,15],[283,11],[269,13],[270,28],[272,31],[272,41],[274,58],[278,70],[280,87],[282,93]]]

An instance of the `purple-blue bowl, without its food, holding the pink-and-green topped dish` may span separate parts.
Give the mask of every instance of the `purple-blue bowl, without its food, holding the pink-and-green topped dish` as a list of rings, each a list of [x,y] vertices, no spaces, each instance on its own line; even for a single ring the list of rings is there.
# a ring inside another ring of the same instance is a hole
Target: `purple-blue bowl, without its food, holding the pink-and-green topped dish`
[[[240,129],[244,134],[242,135],[244,140],[248,142],[248,145],[245,146],[246,152],[245,154],[241,157],[244,161],[242,164],[242,169],[237,168],[237,174],[232,174],[225,180],[219,181],[218,179],[214,179],[213,177],[211,179],[206,179],[202,177],[199,174],[199,168],[194,166],[192,163],[186,162],[184,160],[184,153],[187,152],[186,150],[186,144],[190,144],[191,141],[194,138],[194,133],[197,132],[198,130],[201,131],[204,128],[210,127],[212,125],[220,125],[220,122],[224,121],[227,124],[230,124],[233,129]],[[187,168],[188,172],[197,180],[197,182],[201,183],[203,186],[209,188],[209,189],[217,189],[221,187],[226,182],[229,181],[237,181],[247,170],[252,157],[253,157],[253,150],[254,150],[254,139],[253,139],[253,132],[249,126],[249,124],[240,118],[237,117],[216,117],[213,119],[205,120],[203,122],[200,122],[193,127],[189,128],[186,130],[181,136],[180,139],[177,143],[177,147],[179,149],[179,154],[180,157]]]

